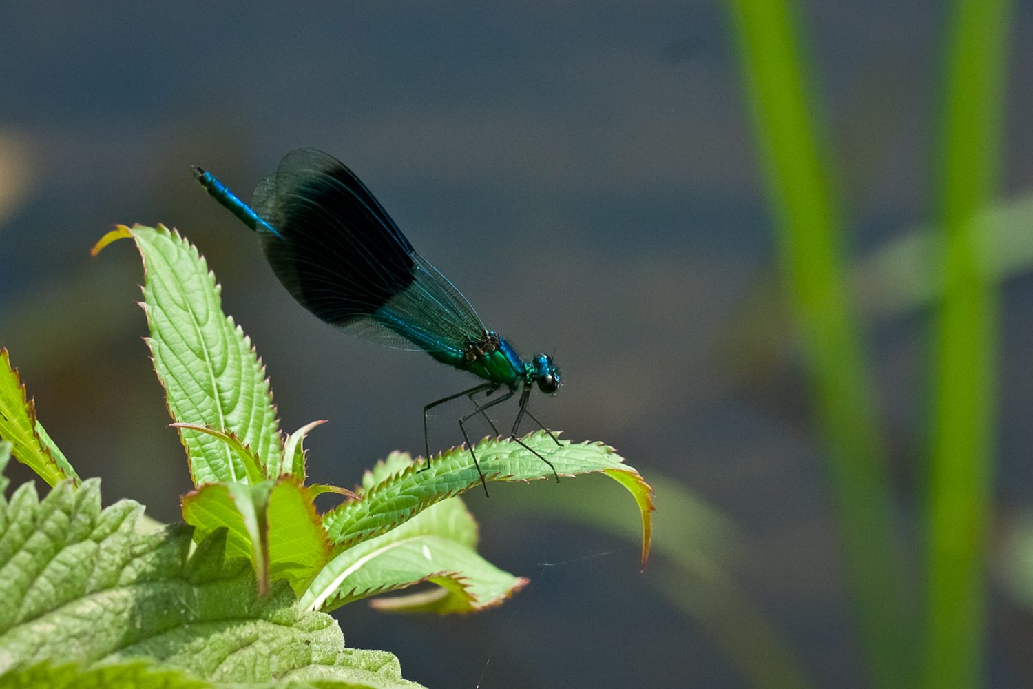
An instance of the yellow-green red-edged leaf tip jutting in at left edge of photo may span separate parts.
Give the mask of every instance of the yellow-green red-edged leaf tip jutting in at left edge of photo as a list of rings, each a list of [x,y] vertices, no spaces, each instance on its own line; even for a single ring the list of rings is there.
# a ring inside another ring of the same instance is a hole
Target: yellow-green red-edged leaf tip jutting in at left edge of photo
[[[26,398],[10,354],[0,347],[0,438],[11,443],[11,453],[40,478],[54,486],[64,478],[80,482],[75,470],[36,420],[36,408]]]

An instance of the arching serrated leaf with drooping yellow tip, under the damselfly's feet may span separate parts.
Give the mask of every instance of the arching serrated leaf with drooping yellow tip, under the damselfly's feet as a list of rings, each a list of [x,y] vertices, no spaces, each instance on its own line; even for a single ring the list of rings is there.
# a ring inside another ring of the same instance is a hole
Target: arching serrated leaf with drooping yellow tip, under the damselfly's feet
[[[547,458],[561,476],[602,472],[624,486],[634,497],[641,514],[643,553],[646,566],[652,539],[653,490],[632,467],[601,443],[573,444],[565,441],[557,446],[542,431],[524,436],[523,442]],[[553,470],[520,443],[504,439],[484,439],[474,448],[484,479],[530,480],[547,478]],[[474,467],[470,451],[461,446],[439,455],[431,466],[424,463],[411,465],[365,490],[363,499],[346,502],[323,515],[323,525],[331,541],[339,549],[373,538],[403,524],[432,504],[459,495],[478,484],[480,476]],[[386,465],[381,471],[386,471]],[[366,480],[364,479],[364,483]]]

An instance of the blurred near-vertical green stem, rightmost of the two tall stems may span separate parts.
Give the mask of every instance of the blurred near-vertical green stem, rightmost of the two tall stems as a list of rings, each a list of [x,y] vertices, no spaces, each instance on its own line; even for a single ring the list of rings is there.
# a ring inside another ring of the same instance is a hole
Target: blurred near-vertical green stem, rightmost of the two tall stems
[[[985,635],[997,293],[974,223],[995,200],[1008,0],[959,0],[947,54],[925,686],[977,687]],[[980,251],[982,249],[982,251]]]

